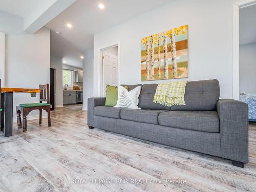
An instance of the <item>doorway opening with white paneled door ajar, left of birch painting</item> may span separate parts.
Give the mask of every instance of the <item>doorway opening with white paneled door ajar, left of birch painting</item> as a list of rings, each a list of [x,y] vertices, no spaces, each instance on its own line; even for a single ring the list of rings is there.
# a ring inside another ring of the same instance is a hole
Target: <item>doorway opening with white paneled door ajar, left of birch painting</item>
[[[118,45],[111,46],[100,50],[101,55],[101,95],[105,97],[106,86],[118,86]]]

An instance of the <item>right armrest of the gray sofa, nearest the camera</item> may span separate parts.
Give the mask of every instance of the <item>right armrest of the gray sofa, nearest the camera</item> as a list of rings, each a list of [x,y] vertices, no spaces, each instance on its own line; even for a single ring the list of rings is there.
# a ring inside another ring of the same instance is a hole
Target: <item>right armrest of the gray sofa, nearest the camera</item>
[[[234,99],[219,99],[221,156],[248,163],[248,105]]]

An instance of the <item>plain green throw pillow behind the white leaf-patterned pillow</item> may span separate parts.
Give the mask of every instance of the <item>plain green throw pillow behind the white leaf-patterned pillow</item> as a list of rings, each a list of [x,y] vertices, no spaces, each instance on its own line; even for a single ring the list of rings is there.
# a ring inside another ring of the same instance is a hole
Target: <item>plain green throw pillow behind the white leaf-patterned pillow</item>
[[[127,86],[124,86],[128,90]],[[106,101],[105,106],[115,106],[118,99],[118,88],[115,86],[106,86]]]

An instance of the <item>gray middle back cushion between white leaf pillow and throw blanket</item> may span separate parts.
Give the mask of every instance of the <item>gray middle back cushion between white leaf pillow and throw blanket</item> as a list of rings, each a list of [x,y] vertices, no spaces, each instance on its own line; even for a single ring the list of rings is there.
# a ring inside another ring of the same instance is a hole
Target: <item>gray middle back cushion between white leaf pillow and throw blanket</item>
[[[154,96],[158,84],[144,84],[140,92],[139,108],[145,110],[170,110],[168,106],[154,103]]]

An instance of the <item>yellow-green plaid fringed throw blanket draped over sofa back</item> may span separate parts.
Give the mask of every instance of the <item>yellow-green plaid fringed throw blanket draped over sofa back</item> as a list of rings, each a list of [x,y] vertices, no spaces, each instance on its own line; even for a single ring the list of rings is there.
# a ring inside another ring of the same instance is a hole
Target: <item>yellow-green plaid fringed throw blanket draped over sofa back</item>
[[[159,83],[153,102],[166,106],[186,105],[184,100],[186,84],[187,81]]]

